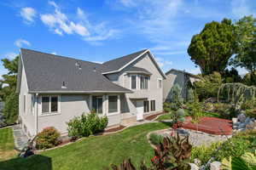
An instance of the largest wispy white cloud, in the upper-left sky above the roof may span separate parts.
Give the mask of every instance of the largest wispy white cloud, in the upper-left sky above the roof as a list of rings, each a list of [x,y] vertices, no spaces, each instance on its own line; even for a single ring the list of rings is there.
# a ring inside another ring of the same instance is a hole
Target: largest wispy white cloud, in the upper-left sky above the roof
[[[107,29],[105,23],[92,25],[81,8],[77,8],[77,18],[79,21],[76,22],[68,19],[67,15],[61,12],[61,9],[55,2],[50,1],[49,5],[55,8],[54,13],[41,14],[40,18],[44,25],[60,36],[76,34],[83,37],[84,41],[93,43],[107,40],[118,32],[114,29]]]

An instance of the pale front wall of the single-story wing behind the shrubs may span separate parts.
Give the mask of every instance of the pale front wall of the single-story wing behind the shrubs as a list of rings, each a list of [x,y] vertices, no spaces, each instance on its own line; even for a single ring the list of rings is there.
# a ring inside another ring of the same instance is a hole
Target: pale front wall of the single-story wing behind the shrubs
[[[92,94],[94,95],[94,94]],[[120,123],[120,101],[118,99],[117,113],[108,114],[108,95],[96,94],[103,96],[103,114],[108,116],[108,127],[119,125]],[[116,94],[109,94],[116,95]],[[42,115],[41,96],[38,98],[38,132],[44,127],[55,127],[61,133],[67,133],[67,122],[75,116],[81,116],[91,110],[91,96],[84,95],[61,95],[58,113]]]

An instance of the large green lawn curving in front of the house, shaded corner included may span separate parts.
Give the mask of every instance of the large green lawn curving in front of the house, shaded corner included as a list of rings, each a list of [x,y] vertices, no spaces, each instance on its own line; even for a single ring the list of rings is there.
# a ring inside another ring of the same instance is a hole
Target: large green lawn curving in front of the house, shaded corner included
[[[0,162],[0,169],[104,169],[127,158],[138,165],[149,163],[153,149],[147,133],[169,127],[165,123],[147,123],[129,127],[120,133],[82,139],[73,144],[44,151],[26,159],[15,158]]]

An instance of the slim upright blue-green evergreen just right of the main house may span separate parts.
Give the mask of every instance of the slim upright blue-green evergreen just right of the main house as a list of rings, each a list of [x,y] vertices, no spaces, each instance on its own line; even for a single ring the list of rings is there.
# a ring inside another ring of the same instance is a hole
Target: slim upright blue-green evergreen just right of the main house
[[[177,111],[183,105],[182,88],[178,84],[175,84],[170,92],[171,95],[171,108]]]

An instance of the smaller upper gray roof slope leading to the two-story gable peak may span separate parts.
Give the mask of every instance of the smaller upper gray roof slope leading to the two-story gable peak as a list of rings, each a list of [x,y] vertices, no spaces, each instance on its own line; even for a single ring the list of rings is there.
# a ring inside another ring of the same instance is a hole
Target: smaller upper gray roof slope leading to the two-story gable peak
[[[112,59],[112,60],[109,60],[109,61],[103,63],[103,65],[105,66],[104,72],[119,70],[121,67],[123,67],[124,65],[129,63],[132,59],[136,59],[137,56],[139,56],[140,54],[143,54],[147,50],[148,49],[143,49],[143,50],[138,51],[136,53],[125,55],[125,56],[120,57],[118,59]]]

